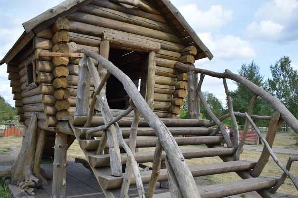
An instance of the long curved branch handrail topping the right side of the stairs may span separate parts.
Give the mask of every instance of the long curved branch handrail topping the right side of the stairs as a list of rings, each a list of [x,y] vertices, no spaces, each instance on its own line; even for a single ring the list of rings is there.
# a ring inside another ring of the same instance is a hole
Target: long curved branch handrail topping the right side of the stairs
[[[274,96],[257,86],[256,84],[252,83],[251,81],[247,80],[241,75],[235,74],[230,70],[226,69],[224,73],[213,72],[206,69],[195,68],[194,66],[187,66],[183,63],[176,62],[175,66],[178,69],[181,69],[184,72],[194,71],[196,73],[205,74],[208,76],[216,77],[216,78],[226,78],[231,79],[247,89],[253,92],[255,95],[261,97],[266,102],[272,105],[272,107],[276,111],[280,111],[282,118],[289,124],[289,126],[298,134],[298,120],[292,115],[292,113],[284,106],[282,102],[276,99]]]

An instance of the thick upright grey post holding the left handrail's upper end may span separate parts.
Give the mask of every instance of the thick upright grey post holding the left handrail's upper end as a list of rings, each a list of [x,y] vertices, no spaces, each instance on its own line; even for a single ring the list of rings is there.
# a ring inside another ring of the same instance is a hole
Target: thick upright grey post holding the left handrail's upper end
[[[90,105],[91,74],[87,67],[88,56],[84,55],[78,64],[76,116],[88,116]]]

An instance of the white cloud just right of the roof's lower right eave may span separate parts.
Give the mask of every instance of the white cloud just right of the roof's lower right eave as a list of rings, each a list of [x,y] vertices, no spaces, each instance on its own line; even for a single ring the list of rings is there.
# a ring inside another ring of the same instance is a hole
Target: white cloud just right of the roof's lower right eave
[[[215,59],[238,59],[256,57],[256,52],[248,41],[233,35],[217,35],[211,33],[198,34],[203,43],[213,53]]]

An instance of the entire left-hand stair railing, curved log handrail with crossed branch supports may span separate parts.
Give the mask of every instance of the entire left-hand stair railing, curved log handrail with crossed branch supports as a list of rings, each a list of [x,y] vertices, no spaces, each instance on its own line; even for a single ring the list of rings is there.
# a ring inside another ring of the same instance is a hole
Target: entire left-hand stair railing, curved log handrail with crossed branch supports
[[[121,187],[121,195],[120,197],[125,197],[128,192],[129,184],[130,184],[130,175],[131,172],[133,173],[135,179],[136,179],[136,185],[137,190],[140,198],[145,198],[145,192],[142,185],[142,180],[140,177],[139,169],[137,166],[137,162],[134,159],[134,150],[136,146],[136,137],[137,137],[137,127],[139,123],[140,115],[148,122],[149,126],[155,131],[157,137],[158,137],[158,145],[155,153],[156,156],[161,156],[162,148],[164,149],[167,158],[166,158],[166,165],[169,171],[170,178],[172,178],[172,181],[174,182],[175,186],[178,188],[178,190],[181,192],[181,194],[184,197],[187,198],[200,198],[196,183],[194,178],[192,177],[192,174],[189,170],[189,167],[186,164],[186,161],[181,153],[180,148],[178,147],[178,144],[176,143],[175,139],[173,138],[172,134],[168,130],[168,128],[165,126],[165,124],[158,118],[157,115],[151,110],[145,99],[141,96],[139,93],[137,87],[132,82],[132,80],[125,75],[120,69],[118,69],[115,65],[113,65],[111,62],[109,62],[104,57],[91,52],[88,49],[82,49],[81,51],[84,53],[84,57],[80,60],[79,63],[79,81],[78,85],[78,92],[77,92],[77,111],[75,115],[87,115],[85,112],[89,112],[88,121],[85,124],[85,127],[89,127],[90,123],[93,118],[93,110],[96,101],[100,104],[102,116],[104,119],[104,126],[99,126],[94,129],[90,129],[87,131],[86,137],[87,139],[91,138],[91,134],[95,131],[103,130],[104,133],[101,137],[99,147],[97,149],[97,154],[102,154],[103,149],[105,148],[106,143],[108,142],[109,151],[110,151],[110,160],[111,164],[111,173],[114,176],[119,176],[121,174],[122,176],[122,167],[121,167],[121,157],[118,141],[125,149],[127,155],[128,155],[128,162],[126,163],[126,170],[125,175]],[[98,61],[99,65],[106,68],[108,73],[104,76],[104,78],[101,80],[98,74],[98,71],[95,68],[95,65],[91,61],[91,58]],[[129,95],[131,101],[131,107],[129,107],[126,111],[118,115],[117,117],[113,117],[108,103],[105,96],[105,93],[101,90],[104,87],[104,84],[106,83],[107,79],[110,75],[113,75],[116,77],[124,86],[125,91]],[[88,95],[84,94],[87,93],[87,90],[90,90],[90,82],[88,82],[88,78],[90,76],[93,79],[94,87],[96,89],[96,92],[93,95],[93,99],[91,102],[91,109],[89,109],[89,99]],[[80,81],[81,79],[81,81]],[[87,82],[87,83],[86,83]],[[131,126],[131,135],[129,140],[129,146],[125,143],[123,137],[122,137],[122,131],[117,124],[117,121],[119,121],[122,117],[129,114],[132,110],[134,110],[134,119]],[[78,113],[79,112],[79,113]],[[155,163],[153,163],[153,169],[158,169],[158,165],[160,167],[160,160],[154,160]],[[152,197],[154,194],[154,190],[156,187],[158,174],[152,173],[152,182],[150,181],[149,184],[149,194],[147,194],[147,197]],[[153,194],[152,194],[153,192]]]

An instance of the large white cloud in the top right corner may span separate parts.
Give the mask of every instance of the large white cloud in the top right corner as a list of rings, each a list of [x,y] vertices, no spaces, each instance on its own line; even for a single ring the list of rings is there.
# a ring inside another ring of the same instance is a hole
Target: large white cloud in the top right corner
[[[255,13],[246,28],[252,39],[285,42],[298,39],[298,0],[273,0]]]

